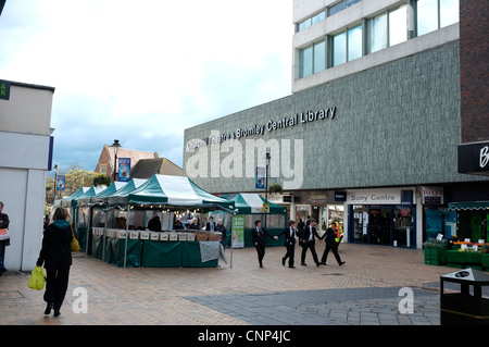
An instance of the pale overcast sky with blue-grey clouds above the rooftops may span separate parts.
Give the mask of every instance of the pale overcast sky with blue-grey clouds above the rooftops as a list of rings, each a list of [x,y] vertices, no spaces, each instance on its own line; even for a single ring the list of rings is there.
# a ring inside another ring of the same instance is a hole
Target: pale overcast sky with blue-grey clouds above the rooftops
[[[104,144],[183,165],[184,129],[291,89],[292,0],[7,0],[0,78],[55,88],[53,164]]]

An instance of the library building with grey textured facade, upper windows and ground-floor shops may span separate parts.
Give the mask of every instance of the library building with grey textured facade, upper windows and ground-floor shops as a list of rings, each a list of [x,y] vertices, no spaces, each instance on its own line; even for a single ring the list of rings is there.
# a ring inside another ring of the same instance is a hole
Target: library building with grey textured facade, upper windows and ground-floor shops
[[[215,194],[264,191],[268,152],[292,219],[394,247],[454,235],[447,205],[489,196],[457,170],[459,1],[293,3],[293,94],[186,129],[185,173]]]

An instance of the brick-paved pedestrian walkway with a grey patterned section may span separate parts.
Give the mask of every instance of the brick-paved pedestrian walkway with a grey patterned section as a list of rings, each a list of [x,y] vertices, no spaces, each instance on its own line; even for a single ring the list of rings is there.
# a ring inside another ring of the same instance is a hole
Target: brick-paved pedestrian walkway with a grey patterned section
[[[324,244],[316,248],[321,257]],[[229,249],[218,268],[176,269],[122,269],[79,252],[59,318],[43,314],[43,290],[27,287],[29,273],[1,276],[0,325],[439,324],[439,277],[454,269],[425,265],[422,250],[341,244],[339,251],[342,267],[334,257],[316,267],[308,255],[308,267],[296,269],[281,265],[284,247],[266,248],[263,269],[254,248],[235,249],[233,268]],[[405,287],[412,313],[399,310]],[[80,293],[86,313],[75,312]]]

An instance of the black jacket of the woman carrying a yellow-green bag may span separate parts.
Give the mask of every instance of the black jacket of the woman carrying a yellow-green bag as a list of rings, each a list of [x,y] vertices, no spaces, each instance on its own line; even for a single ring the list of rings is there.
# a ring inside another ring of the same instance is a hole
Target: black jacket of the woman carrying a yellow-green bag
[[[42,236],[42,247],[37,264],[45,264],[46,269],[66,269],[72,264],[73,239],[70,223],[58,220],[49,224]]]

